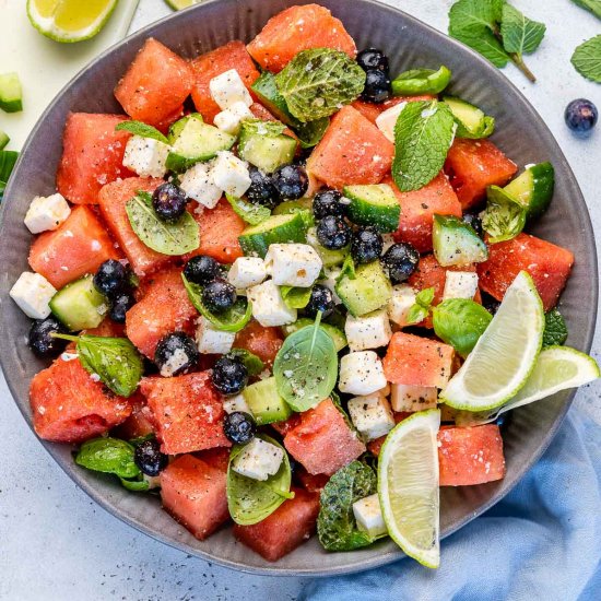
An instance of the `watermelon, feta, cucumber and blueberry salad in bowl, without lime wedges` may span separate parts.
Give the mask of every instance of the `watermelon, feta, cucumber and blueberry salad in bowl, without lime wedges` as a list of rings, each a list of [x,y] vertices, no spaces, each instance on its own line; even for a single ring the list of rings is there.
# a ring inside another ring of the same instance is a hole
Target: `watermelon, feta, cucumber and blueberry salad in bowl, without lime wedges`
[[[25,216],[11,296],[54,358],[31,382],[38,436],[199,540],[234,521],[270,562],[316,528],[329,551],[386,537],[378,456],[421,413],[443,422],[437,486],[503,479],[517,390],[483,416],[445,389],[526,274],[535,354],[563,349],[574,256],[523,232],[553,166],[516,177],[450,79],[392,79],[317,4],[192,60],[148,39],[122,114],[68,117],[57,191]]]

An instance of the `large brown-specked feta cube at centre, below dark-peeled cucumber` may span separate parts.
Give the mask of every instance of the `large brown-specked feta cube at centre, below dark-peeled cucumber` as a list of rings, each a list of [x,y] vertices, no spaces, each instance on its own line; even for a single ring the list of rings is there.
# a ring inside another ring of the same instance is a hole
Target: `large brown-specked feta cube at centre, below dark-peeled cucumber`
[[[321,258],[308,244],[272,244],[266,255],[267,272],[279,286],[309,287],[321,272]]]

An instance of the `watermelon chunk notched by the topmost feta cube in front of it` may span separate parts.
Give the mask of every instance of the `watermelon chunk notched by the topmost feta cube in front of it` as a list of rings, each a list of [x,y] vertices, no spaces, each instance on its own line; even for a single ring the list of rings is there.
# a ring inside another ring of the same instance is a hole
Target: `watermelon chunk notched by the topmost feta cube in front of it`
[[[235,69],[252,94],[250,86],[260,74],[246,51],[245,45],[239,39],[228,42],[225,46],[201,55],[190,62],[190,67],[195,74],[192,101],[197,110],[209,123],[212,123],[215,115],[221,111],[209,90],[209,83],[213,78]]]

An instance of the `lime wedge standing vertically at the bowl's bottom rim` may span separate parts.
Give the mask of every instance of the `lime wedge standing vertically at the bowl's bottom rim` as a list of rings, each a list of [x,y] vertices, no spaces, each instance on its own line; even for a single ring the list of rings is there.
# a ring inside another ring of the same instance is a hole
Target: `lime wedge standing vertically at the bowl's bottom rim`
[[[400,422],[378,459],[378,495],[392,540],[426,567],[440,565],[437,409]]]

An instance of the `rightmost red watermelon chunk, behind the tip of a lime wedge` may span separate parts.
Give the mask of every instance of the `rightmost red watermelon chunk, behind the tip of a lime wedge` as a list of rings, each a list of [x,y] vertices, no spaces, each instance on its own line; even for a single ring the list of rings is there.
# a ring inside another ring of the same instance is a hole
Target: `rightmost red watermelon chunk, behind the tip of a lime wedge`
[[[478,266],[480,286],[503,300],[505,292],[520,271],[528,271],[541,295],[544,310],[552,309],[564,290],[574,255],[529,234],[488,246],[488,260]]]

